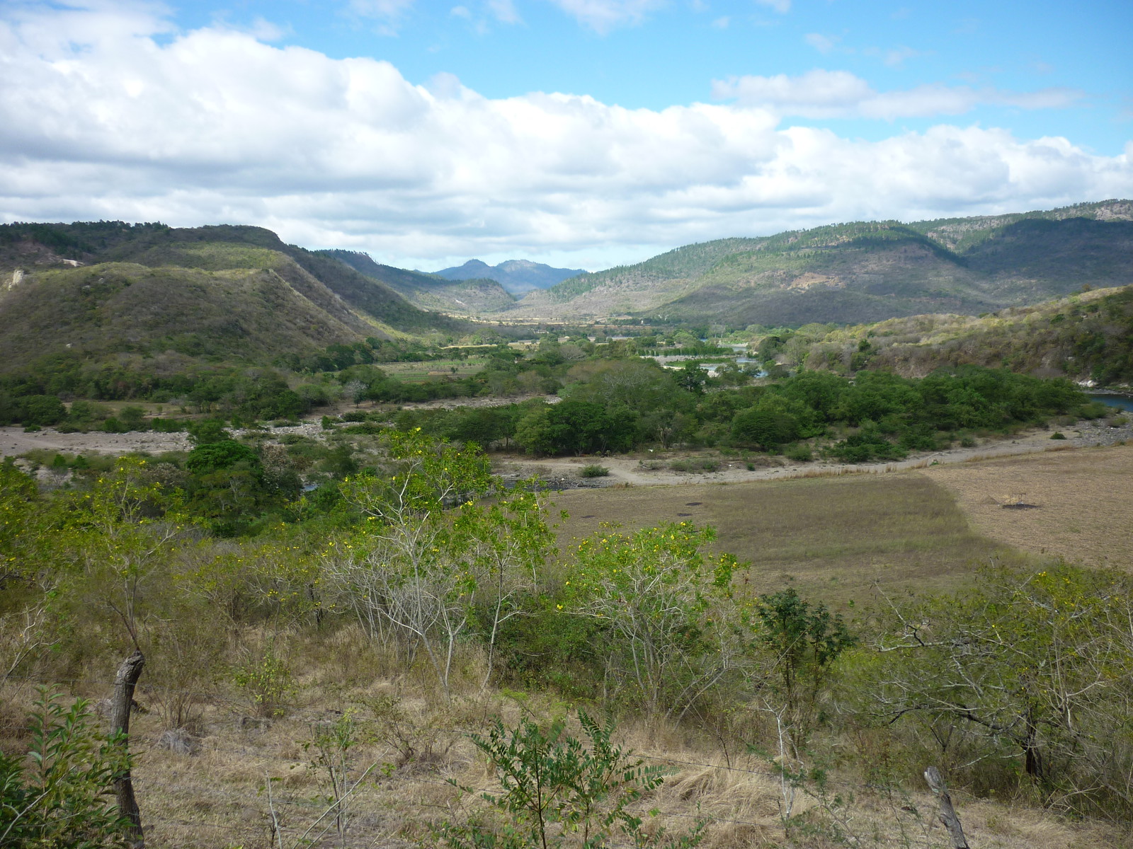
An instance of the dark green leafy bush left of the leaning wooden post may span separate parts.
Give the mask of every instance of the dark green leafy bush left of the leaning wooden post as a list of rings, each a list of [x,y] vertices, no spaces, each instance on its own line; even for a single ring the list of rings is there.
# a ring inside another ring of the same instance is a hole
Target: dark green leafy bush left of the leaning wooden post
[[[107,795],[129,761],[121,746],[99,735],[87,702],[66,707],[60,694],[41,688],[28,726],[29,765],[0,753],[0,844],[95,849],[123,843],[129,821]]]

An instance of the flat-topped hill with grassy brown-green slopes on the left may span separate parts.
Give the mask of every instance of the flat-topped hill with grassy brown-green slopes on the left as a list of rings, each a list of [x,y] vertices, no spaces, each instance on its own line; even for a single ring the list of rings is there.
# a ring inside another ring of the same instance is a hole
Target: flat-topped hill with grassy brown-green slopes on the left
[[[460,327],[262,228],[0,226],[3,370],[62,351],[262,362]]]

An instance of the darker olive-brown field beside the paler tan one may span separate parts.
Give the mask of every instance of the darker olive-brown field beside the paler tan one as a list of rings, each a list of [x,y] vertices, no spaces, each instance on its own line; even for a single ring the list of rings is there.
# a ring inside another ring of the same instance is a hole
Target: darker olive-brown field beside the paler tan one
[[[978,564],[1013,555],[974,532],[952,494],[918,472],[579,489],[555,505],[570,513],[563,544],[600,522],[713,525],[719,550],[751,563],[741,580],[752,591],[793,584],[837,603],[874,600],[875,583],[887,592],[954,589]]]

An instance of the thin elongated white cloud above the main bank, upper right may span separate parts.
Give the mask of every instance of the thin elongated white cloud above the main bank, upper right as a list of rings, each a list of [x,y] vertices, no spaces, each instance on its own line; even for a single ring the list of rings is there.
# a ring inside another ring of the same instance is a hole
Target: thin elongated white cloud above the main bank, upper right
[[[920,85],[897,92],[876,92],[850,71],[816,69],[798,77],[731,77],[713,83],[716,100],[761,106],[801,118],[926,118],[959,115],[985,104],[1020,109],[1059,109],[1083,95],[1072,88],[1005,92],[996,88]]]

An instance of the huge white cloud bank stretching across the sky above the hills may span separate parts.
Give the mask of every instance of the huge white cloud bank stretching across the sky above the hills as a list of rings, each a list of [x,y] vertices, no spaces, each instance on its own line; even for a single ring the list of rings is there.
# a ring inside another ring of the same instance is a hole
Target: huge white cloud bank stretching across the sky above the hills
[[[488,98],[451,75],[415,85],[389,62],[248,32],[169,33],[143,7],[50,20],[28,8],[0,16],[8,221],[253,223],[423,267],[599,251],[612,264],[642,246],[1133,194],[1127,152],[1098,156],[1063,138],[938,126],[862,142],[782,121],[961,111],[991,96],[968,89],[879,94],[816,71],[730,80],[717,93],[738,103],[662,110]]]

